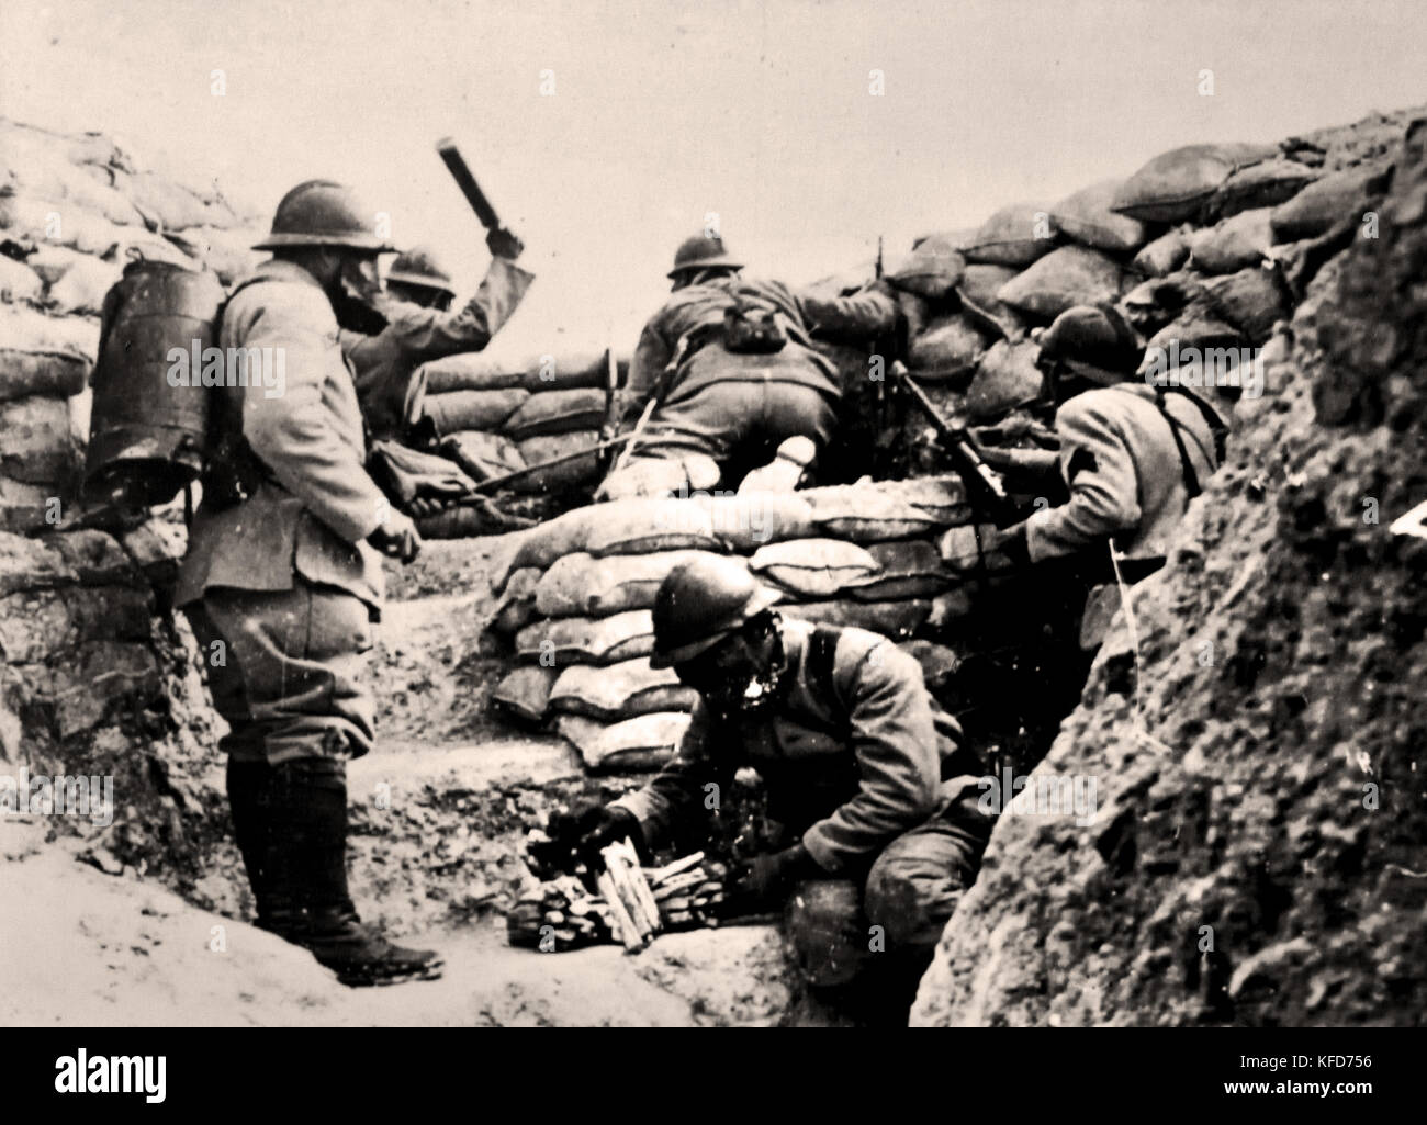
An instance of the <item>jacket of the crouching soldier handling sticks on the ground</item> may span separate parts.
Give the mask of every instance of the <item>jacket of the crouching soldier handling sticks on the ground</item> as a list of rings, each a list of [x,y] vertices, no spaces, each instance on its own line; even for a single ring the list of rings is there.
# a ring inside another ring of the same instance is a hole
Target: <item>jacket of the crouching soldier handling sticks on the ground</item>
[[[739,767],[758,770],[769,812],[826,871],[872,859],[895,837],[926,821],[965,781],[943,782],[956,751],[955,722],[939,715],[920,665],[890,641],[859,628],[835,630],[833,690],[809,675],[813,627],[783,621],[782,705],[771,715],[723,722],[702,702],[678,755],[648,785],[616,805],[655,841],[679,819],[706,817],[705,785],[728,792]]]

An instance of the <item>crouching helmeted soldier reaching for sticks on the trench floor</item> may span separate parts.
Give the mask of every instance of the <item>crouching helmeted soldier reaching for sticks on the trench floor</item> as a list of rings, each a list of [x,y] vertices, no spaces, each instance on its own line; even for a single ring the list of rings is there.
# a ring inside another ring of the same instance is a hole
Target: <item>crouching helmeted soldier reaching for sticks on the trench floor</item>
[[[735,898],[786,904],[809,984],[860,977],[878,1014],[905,1024],[990,834],[972,775],[980,765],[916,660],[859,628],[785,621],[769,608],[778,597],[718,555],[669,572],[651,664],[699,692],[678,757],[638,792],[552,818],[551,859],[598,864],[599,848],[625,837],[658,847],[718,817],[719,794],[751,765],[795,842],[745,864]]]

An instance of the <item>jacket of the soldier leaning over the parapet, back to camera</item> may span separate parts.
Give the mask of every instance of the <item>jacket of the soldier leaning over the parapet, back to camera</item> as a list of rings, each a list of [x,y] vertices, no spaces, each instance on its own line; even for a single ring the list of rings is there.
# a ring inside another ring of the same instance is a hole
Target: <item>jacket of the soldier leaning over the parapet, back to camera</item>
[[[771,355],[735,355],[711,343],[679,364],[665,401],[686,398],[719,380],[773,380],[801,383],[836,398],[841,395],[832,363],[812,348],[816,334],[826,340],[869,340],[896,324],[896,301],[883,288],[869,288],[852,297],[819,297],[793,293],[781,281],[748,277],[718,277],[676,290],[664,308],[644,326],[629,363],[629,380],[619,393],[615,417],[638,417],[654,394],[679,338],[696,327],[722,324],[731,294],[752,304],[772,307],[788,334],[782,351]]]

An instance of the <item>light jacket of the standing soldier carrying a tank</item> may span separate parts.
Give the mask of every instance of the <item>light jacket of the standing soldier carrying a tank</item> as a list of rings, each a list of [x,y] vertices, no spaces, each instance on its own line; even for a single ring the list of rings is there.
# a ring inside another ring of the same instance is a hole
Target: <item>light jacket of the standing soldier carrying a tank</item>
[[[220,347],[281,348],[281,394],[223,387],[217,408],[241,417],[267,480],[223,511],[200,505],[188,533],[176,601],[208,587],[291,590],[294,574],[380,607],[381,557],[367,537],[388,501],[367,470],[361,410],[321,286],[298,266],[271,260],[223,314]]]

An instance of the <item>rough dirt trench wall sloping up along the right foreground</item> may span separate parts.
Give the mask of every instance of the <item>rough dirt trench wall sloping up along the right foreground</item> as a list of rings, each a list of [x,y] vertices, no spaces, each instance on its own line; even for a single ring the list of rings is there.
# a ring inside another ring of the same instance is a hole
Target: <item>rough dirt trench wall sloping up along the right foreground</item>
[[[1097,815],[1002,818],[913,1022],[1421,1022],[1427,123],[1377,218],[1032,775]]]

